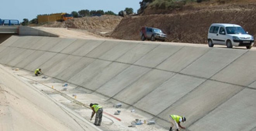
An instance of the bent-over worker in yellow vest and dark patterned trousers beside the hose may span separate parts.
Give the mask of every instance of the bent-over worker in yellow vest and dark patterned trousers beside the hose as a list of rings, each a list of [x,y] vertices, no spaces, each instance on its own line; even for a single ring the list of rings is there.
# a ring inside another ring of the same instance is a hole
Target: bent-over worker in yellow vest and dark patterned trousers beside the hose
[[[98,104],[90,104],[90,107],[92,108],[92,116],[91,116],[91,121],[92,121],[92,118],[94,116],[94,114],[96,113],[96,116],[95,116],[95,121],[94,121],[94,124],[95,126],[100,126],[100,123],[101,123],[101,120],[102,120],[102,113],[103,113],[103,109],[101,106],[99,106]]]

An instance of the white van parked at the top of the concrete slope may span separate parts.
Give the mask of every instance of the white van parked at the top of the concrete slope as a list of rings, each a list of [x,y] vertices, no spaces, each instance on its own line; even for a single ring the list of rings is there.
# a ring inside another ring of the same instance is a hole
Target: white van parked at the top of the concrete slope
[[[214,44],[233,46],[246,46],[251,49],[254,44],[254,38],[248,35],[240,25],[235,24],[212,24],[208,32],[208,45]]]

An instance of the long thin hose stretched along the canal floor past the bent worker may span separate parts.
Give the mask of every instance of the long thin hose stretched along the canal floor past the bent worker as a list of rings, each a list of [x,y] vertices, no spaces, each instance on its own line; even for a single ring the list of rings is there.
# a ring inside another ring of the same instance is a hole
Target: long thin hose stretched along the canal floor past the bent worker
[[[21,75],[19,75],[19,74],[17,74],[17,75],[18,75],[18,76],[21,76]],[[31,81],[35,81],[35,80],[30,79],[30,78],[25,77],[25,76],[21,76],[21,77],[24,77],[24,78],[29,79],[29,80],[31,80]],[[35,82],[38,82],[38,81],[35,81]],[[52,87],[50,87],[50,86],[47,86],[47,85],[45,85],[45,84],[43,84],[43,83],[41,83],[41,82],[38,82],[38,83],[40,83],[40,84],[42,84],[43,86],[46,86],[46,87],[48,87],[48,88],[50,88],[50,89],[52,89],[52,90],[58,92],[61,96],[65,97],[65,98],[68,99],[69,101],[72,101],[72,102],[74,102],[74,103],[76,103],[76,104],[78,104],[78,105],[81,105],[81,106],[83,106],[83,107],[86,107],[87,109],[91,109],[90,106],[87,106],[86,104],[83,104],[82,102],[80,102],[80,101],[78,101],[78,100],[76,100],[76,99],[74,99],[74,98],[72,98],[72,97],[70,97],[70,96],[67,96],[67,94],[65,94],[65,93],[62,93],[62,92],[60,92],[60,91],[58,91],[58,90],[56,90],[56,89],[54,89],[54,88],[52,88]],[[103,112],[103,113],[104,113],[104,114],[107,114],[108,116],[111,116],[111,117],[114,118],[114,119],[117,119],[118,121],[121,121],[121,119],[119,119],[119,118],[117,118],[117,117],[115,117],[115,116],[113,116],[113,115],[111,115],[111,114],[109,114],[109,113],[106,113],[106,112]],[[104,116],[104,117],[107,118],[107,119],[109,119],[109,120],[111,121],[110,124],[105,124],[105,125],[112,125],[112,124],[114,123],[114,121],[113,121],[112,119],[110,119],[110,118],[108,118],[108,117],[106,117],[106,116]]]

